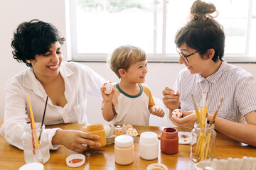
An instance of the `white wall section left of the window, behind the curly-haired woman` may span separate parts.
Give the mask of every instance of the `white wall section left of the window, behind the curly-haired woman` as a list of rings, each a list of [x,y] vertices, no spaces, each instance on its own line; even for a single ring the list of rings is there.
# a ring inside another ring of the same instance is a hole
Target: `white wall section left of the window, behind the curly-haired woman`
[[[0,1],[0,120],[4,120],[4,82],[18,74],[26,65],[14,60],[11,51],[11,38],[19,23],[37,18],[53,23],[65,37],[64,0],[1,0]],[[67,53],[63,45],[64,55]]]

